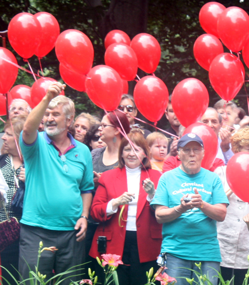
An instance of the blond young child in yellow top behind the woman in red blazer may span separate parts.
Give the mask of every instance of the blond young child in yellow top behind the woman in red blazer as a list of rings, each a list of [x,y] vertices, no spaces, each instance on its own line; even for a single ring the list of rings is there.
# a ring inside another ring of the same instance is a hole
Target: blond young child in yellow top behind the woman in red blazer
[[[152,169],[162,171],[167,155],[168,139],[162,133],[154,132],[148,135],[146,141],[150,147]]]

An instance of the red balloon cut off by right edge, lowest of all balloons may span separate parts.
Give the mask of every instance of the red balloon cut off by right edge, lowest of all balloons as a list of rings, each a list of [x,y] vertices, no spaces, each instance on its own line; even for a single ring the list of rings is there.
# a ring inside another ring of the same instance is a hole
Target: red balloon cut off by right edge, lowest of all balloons
[[[249,153],[236,153],[227,164],[226,176],[228,185],[235,195],[249,202]]]

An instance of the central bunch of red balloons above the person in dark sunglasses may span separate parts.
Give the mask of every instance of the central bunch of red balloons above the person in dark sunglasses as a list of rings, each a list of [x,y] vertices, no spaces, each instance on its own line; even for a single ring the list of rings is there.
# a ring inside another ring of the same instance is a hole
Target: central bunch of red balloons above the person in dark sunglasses
[[[112,111],[128,91],[127,81],[134,80],[139,67],[153,73],[159,63],[161,49],[151,35],[141,33],[131,41],[120,30],[109,32],[105,38],[105,63],[87,74],[85,88],[89,98],[99,107]],[[166,85],[155,76],[145,76],[135,86],[134,100],[138,110],[149,121],[157,122],[168,104]]]

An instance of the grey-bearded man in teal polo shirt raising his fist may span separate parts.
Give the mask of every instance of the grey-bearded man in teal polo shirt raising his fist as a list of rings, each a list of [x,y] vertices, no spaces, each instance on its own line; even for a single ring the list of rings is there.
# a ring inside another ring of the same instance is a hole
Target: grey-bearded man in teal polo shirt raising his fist
[[[68,133],[75,109],[72,100],[58,96],[64,88],[60,83],[50,85],[29,114],[20,136],[26,169],[19,255],[19,272],[24,279],[29,278],[27,264],[34,270],[37,263],[40,241],[45,247],[58,249],[41,255],[39,272],[47,276],[46,280],[53,271],[59,274],[84,262],[94,188],[92,157],[88,147]],[[42,119],[45,132],[38,133]]]

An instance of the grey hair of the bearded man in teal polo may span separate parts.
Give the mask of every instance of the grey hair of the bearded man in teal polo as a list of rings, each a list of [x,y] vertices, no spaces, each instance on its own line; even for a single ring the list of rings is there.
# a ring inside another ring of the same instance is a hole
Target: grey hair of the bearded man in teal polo
[[[75,115],[74,102],[70,98],[63,95],[59,95],[50,101],[47,108],[54,109],[55,107],[58,107],[58,105],[62,105],[62,110],[67,119],[71,119],[71,117],[74,118]],[[74,120],[72,120],[69,128],[73,127],[73,124]]]

